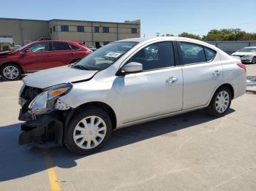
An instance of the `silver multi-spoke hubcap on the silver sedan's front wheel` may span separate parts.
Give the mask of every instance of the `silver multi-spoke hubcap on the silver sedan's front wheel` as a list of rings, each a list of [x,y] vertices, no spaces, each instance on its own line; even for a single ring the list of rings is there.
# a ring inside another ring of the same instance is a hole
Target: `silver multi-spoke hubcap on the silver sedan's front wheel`
[[[107,125],[102,118],[89,116],[80,120],[75,126],[73,139],[81,149],[93,149],[105,138]]]

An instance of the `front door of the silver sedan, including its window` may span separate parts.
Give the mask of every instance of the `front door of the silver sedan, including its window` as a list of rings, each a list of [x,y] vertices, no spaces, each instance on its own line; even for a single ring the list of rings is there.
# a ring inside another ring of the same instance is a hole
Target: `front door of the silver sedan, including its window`
[[[137,52],[129,62],[143,71],[118,77],[121,87],[121,121],[143,120],[182,109],[183,78],[175,66],[172,42],[157,42]]]

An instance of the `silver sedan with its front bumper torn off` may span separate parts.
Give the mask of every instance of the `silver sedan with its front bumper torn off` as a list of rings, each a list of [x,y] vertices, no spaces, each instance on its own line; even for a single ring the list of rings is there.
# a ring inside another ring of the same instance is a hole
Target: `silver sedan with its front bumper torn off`
[[[151,55],[152,51],[156,56]],[[19,144],[99,150],[116,128],[206,108],[227,114],[246,91],[246,67],[195,39],[124,39],[76,64],[23,78]]]

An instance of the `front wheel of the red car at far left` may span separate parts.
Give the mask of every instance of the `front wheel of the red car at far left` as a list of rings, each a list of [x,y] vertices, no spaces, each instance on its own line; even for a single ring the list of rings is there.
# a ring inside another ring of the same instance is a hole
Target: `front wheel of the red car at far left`
[[[15,63],[8,63],[1,67],[1,77],[7,81],[14,81],[21,78],[20,66]]]

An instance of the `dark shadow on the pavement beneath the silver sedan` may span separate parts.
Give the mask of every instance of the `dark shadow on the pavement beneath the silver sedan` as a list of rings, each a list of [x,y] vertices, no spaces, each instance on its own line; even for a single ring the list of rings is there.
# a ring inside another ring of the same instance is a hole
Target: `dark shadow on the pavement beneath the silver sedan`
[[[229,113],[232,112],[234,110],[230,109]],[[93,155],[99,155],[101,152],[108,152],[111,149],[124,147],[156,136],[170,136],[170,139],[173,139],[175,137],[173,134],[176,135],[178,130],[190,128],[214,119],[216,118],[210,117],[204,110],[199,110],[167,117],[162,120],[146,122],[141,125],[134,125],[129,128],[121,128],[113,131],[108,144]],[[19,133],[20,123],[0,127],[0,182],[45,171],[47,169],[44,157],[45,152],[52,157],[53,166],[58,166],[59,168],[72,168],[77,165],[76,160],[82,157],[90,157],[90,155],[72,154],[65,147],[25,149],[25,147],[18,145]]]

